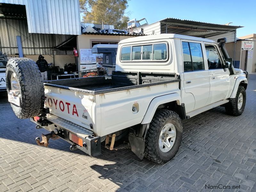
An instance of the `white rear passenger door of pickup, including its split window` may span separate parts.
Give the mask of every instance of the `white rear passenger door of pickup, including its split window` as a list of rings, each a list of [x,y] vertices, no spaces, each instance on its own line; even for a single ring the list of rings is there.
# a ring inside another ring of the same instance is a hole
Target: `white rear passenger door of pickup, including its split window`
[[[209,98],[209,72],[204,61],[202,46],[201,42],[182,40],[185,91],[182,99],[186,113],[204,107]]]

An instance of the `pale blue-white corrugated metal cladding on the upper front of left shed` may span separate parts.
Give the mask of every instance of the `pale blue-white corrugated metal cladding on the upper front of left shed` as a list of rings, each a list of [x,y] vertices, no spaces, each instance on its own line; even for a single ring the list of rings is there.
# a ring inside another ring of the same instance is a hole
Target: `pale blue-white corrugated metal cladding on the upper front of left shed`
[[[26,5],[29,33],[80,35],[79,0],[0,0]]]

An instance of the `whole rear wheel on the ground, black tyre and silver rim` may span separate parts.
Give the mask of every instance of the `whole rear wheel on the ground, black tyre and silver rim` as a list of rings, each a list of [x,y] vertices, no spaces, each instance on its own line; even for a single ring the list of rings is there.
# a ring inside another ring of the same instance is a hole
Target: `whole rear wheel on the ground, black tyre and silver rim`
[[[156,111],[145,138],[145,157],[157,164],[170,161],[182,139],[180,116],[166,109]]]

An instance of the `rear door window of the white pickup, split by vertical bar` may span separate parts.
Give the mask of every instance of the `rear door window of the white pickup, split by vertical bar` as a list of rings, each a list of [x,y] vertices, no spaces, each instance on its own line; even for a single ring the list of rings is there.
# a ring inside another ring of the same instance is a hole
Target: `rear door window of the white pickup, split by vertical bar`
[[[204,70],[204,58],[200,43],[182,42],[184,72]]]

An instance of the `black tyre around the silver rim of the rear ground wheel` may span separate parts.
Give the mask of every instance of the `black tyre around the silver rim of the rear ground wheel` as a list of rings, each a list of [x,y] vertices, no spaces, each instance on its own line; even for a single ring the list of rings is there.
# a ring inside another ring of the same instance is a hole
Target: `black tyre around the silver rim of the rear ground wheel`
[[[172,123],[176,129],[176,139],[170,151],[164,153],[159,148],[159,136],[164,125]],[[182,123],[180,116],[170,110],[159,109],[156,111],[145,138],[145,157],[157,164],[170,161],[178,152],[182,140]]]

